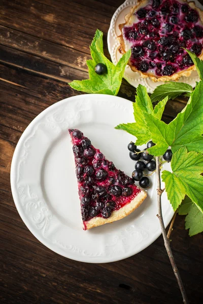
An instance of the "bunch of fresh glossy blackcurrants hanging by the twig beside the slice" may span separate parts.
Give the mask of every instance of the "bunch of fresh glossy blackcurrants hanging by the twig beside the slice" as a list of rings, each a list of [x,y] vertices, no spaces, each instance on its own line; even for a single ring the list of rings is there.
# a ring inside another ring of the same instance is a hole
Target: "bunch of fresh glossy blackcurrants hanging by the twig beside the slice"
[[[153,141],[147,143],[147,147],[141,151],[137,148],[137,145],[132,141],[128,144],[127,148],[129,150],[129,157],[133,161],[137,161],[134,165],[135,170],[132,172],[132,178],[135,181],[139,181],[139,185],[142,188],[148,188],[150,185],[149,178],[144,174],[145,170],[153,172],[156,170],[156,162],[153,160],[154,156],[149,154],[147,149],[154,146]],[[142,160],[141,160],[142,159]],[[163,154],[163,159],[167,162],[172,160],[172,150],[167,149]]]

